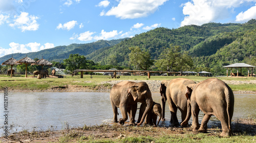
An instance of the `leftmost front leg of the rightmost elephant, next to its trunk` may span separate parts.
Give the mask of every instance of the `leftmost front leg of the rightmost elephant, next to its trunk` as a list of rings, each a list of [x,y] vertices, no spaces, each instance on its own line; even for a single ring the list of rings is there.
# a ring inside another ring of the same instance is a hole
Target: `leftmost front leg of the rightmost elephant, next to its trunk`
[[[198,115],[199,115],[199,106],[197,103],[191,103],[191,115],[192,115],[192,125],[193,125],[193,131],[198,131],[199,129],[199,123],[198,123]]]

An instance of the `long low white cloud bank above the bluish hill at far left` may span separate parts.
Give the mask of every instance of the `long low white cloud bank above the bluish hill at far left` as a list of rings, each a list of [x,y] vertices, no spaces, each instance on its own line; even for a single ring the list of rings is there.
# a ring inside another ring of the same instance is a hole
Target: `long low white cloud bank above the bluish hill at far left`
[[[52,43],[45,43],[44,46],[40,46],[40,43],[28,43],[28,44],[19,44],[19,43],[14,43],[11,42],[9,44],[10,48],[4,49],[0,47],[0,57],[7,55],[7,54],[12,54],[12,53],[28,53],[28,52],[36,52],[42,49],[49,49],[53,48],[54,44]]]

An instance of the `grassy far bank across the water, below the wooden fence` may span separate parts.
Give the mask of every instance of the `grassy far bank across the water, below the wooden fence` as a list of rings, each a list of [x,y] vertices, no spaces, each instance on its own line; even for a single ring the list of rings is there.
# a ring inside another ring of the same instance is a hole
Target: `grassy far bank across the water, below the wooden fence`
[[[46,87],[43,84],[51,84],[51,78],[46,78],[48,81],[40,81],[42,87]],[[46,80],[43,79],[43,80]],[[57,78],[58,79],[58,78]],[[63,79],[60,79],[63,80]],[[160,82],[161,80],[131,80],[128,79],[129,81],[134,81],[134,82],[141,82],[144,81],[148,84],[148,87],[150,88],[151,92],[159,92],[160,88]],[[7,80],[8,81],[8,80]],[[10,80],[11,81],[16,81],[18,80]],[[9,92],[110,92],[112,87],[123,80],[106,80],[106,81],[97,81],[95,82],[94,80],[72,80],[70,83],[66,84],[57,84],[57,85],[52,85],[49,86],[48,88],[29,88],[29,85],[24,86],[22,88],[19,87],[10,87],[8,88]],[[196,83],[202,81],[202,80],[194,80]],[[223,80],[225,83],[227,83],[230,88],[233,90],[233,93],[237,94],[256,94],[256,80]],[[22,82],[22,81],[20,81]],[[13,82],[12,82],[13,83]],[[8,85],[11,83],[7,83],[5,85]],[[22,83],[21,83],[22,84]],[[29,84],[29,83],[27,83]],[[31,83],[33,84],[33,83]],[[252,90],[248,90],[246,88],[252,86]],[[254,88],[253,88],[254,86]],[[243,88],[245,87],[245,88]],[[4,88],[4,87],[3,87]],[[0,92],[3,92],[3,88],[0,90]]]

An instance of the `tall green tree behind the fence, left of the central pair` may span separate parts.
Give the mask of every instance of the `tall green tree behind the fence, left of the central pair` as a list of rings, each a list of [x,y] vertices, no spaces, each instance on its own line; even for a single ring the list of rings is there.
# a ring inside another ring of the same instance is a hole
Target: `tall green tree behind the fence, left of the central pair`
[[[136,70],[147,70],[153,65],[150,52],[147,50],[141,50],[140,47],[129,47],[131,53],[129,53],[129,63],[133,65]]]

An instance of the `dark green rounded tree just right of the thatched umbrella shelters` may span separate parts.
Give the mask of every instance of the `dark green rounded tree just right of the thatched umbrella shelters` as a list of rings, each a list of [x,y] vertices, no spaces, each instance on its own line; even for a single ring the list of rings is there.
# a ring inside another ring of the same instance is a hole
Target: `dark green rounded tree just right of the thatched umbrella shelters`
[[[84,55],[70,54],[69,59],[63,60],[66,70],[74,71],[75,69],[87,69],[87,60]]]

